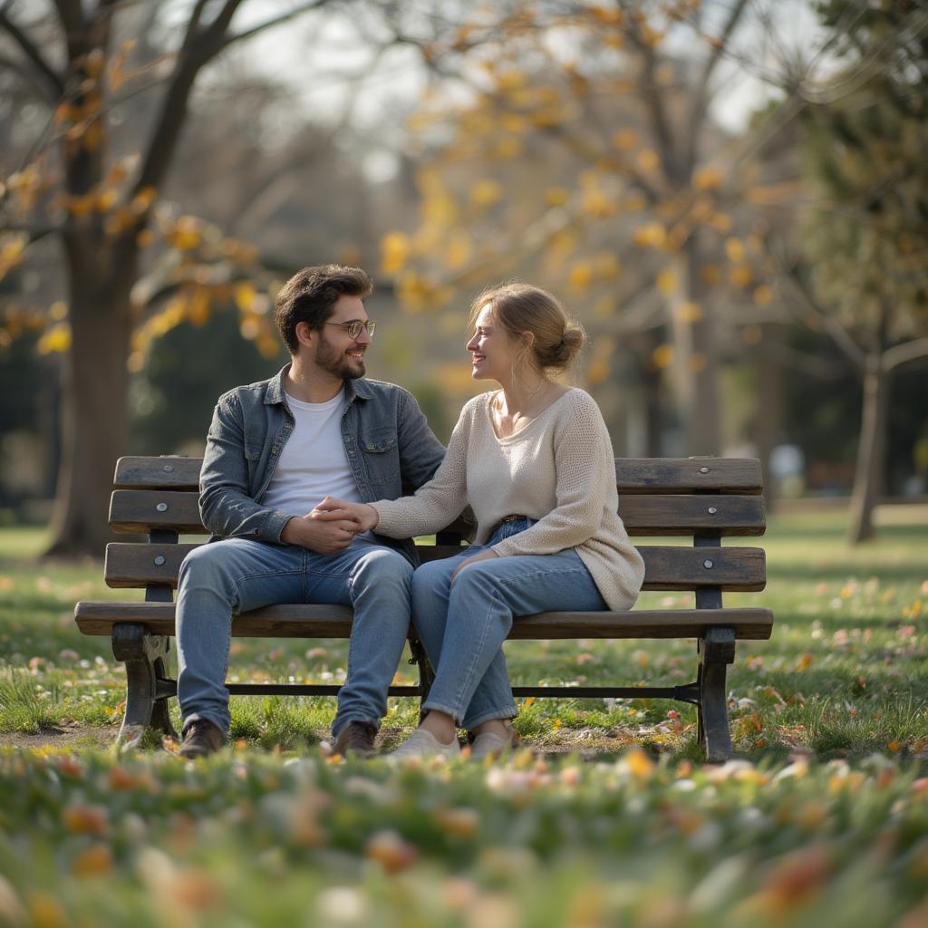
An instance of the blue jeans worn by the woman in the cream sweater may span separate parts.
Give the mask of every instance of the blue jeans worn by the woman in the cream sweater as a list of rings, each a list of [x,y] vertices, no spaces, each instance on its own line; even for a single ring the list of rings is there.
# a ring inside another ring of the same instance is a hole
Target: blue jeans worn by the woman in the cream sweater
[[[461,561],[530,524],[524,517],[503,522],[486,545],[423,564],[413,574],[412,621],[435,669],[422,708],[451,715],[464,728],[517,714],[502,648],[513,618],[608,608],[573,548],[480,561],[451,582]]]

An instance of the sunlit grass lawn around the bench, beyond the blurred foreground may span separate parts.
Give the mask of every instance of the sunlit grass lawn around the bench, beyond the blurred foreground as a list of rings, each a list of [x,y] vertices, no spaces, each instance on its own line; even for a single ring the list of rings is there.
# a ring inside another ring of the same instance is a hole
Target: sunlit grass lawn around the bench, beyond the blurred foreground
[[[776,617],[773,638],[740,643],[729,671],[732,730],[742,756],[928,753],[926,516],[924,507],[883,507],[879,538],[856,549],[844,545],[842,511],[770,520],[763,539],[767,589],[726,597],[766,605]],[[0,732],[117,725],[122,666],[109,639],[77,632],[72,609],[77,599],[141,594],[107,589],[93,561],[35,561],[41,542],[35,530],[0,530]],[[692,595],[645,593],[639,602],[682,605]],[[344,678],[342,641],[239,638],[232,650],[230,679]],[[666,684],[695,677],[691,641],[520,641],[507,650],[514,683]],[[415,675],[415,667],[400,665],[398,681],[413,683]],[[326,737],[333,711],[326,698],[241,697],[232,701],[232,735],[300,751]],[[416,701],[392,700],[385,742],[402,737],[416,717]],[[517,719],[524,741],[550,751],[638,744],[697,760],[695,723],[692,707],[661,700],[530,699]]]

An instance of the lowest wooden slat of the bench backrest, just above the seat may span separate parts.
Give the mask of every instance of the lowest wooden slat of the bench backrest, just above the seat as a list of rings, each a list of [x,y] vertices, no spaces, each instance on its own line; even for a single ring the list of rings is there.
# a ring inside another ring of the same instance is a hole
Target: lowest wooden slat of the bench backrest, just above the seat
[[[147,584],[177,586],[181,561],[197,545],[107,545],[104,575],[107,586],[131,588]],[[423,561],[459,551],[451,546],[423,546]],[[763,548],[677,548],[642,546],[644,589],[691,590],[721,586],[726,592],[750,592],[765,586],[767,570]],[[161,561],[159,563],[159,561]],[[706,563],[711,564],[706,567]]]

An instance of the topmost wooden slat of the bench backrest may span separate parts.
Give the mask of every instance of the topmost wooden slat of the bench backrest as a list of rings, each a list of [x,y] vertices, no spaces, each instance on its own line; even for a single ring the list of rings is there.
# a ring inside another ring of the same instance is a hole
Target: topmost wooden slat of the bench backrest
[[[196,490],[202,458],[126,457],[116,463],[113,486],[120,490]],[[756,458],[616,458],[619,493],[761,492]]]

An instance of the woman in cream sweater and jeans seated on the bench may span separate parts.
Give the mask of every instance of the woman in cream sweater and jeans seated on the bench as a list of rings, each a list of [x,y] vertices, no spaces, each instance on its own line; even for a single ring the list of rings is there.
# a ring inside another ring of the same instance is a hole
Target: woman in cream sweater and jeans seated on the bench
[[[412,621],[435,679],[413,734],[394,752],[472,756],[512,743],[517,714],[502,644],[514,617],[628,609],[644,563],[617,514],[612,443],[599,406],[549,378],[584,333],[544,290],[506,284],[473,303],[474,380],[502,389],[464,406],[445,461],[415,496],[367,504],[328,498],[359,530],[406,538],[445,527],[470,505],[474,544],[413,574]]]

